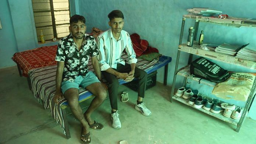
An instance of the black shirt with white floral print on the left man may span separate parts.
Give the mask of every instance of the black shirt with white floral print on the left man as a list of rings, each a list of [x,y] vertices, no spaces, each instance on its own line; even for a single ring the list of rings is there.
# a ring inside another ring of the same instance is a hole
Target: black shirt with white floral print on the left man
[[[77,76],[85,76],[88,73],[89,58],[97,55],[99,50],[93,36],[85,34],[80,51],[71,34],[60,39],[55,60],[65,62],[62,81],[74,82]]]

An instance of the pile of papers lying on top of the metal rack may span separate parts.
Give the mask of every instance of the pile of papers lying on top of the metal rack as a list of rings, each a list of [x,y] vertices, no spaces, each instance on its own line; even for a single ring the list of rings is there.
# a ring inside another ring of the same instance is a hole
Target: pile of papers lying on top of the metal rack
[[[222,11],[214,10],[211,8],[189,8],[187,9],[188,12],[195,15],[202,15],[202,16],[212,16],[212,15],[219,15],[222,13]]]

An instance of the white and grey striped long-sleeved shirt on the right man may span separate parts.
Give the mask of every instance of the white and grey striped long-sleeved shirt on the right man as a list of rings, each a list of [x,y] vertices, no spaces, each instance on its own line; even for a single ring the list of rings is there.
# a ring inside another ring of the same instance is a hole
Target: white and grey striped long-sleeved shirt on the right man
[[[101,71],[117,68],[117,64],[125,65],[121,59],[122,52],[126,50],[129,61],[128,64],[136,63],[136,54],[132,47],[132,41],[128,32],[122,30],[118,40],[115,40],[111,29],[103,32],[97,37],[97,46],[100,50],[99,63]]]

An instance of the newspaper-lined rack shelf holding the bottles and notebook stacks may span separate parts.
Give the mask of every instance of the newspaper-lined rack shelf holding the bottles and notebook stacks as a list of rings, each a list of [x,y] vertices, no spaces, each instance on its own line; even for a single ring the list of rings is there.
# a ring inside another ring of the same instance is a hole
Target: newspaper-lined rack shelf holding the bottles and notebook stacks
[[[225,62],[228,64],[243,66],[245,68],[256,70],[256,62],[254,61],[244,60],[242,58],[236,58],[232,55],[216,53],[215,51],[211,51],[211,50],[203,50],[200,48],[200,45],[198,45],[197,43],[198,42],[195,41],[192,47],[189,47],[186,44],[181,44],[181,46],[178,47],[178,50],[184,51],[186,53],[210,58],[212,60],[217,60],[217,61]]]

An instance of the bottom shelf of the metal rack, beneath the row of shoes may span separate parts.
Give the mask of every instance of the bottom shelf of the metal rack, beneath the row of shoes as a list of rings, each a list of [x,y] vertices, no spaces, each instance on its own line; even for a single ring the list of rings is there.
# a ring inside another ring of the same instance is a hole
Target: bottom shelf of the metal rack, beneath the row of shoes
[[[195,108],[193,105],[188,103],[188,100],[186,100],[186,99],[184,99],[182,97],[177,97],[177,96],[174,95],[173,99],[177,100],[179,102],[182,102],[183,104],[188,105],[188,106],[190,106],[192,108]],[[195,108],[195,109],[198,109],[198,108]],[[206,113],[208,115],[214,116],[215,118],[218,118],[218,119],[223,120],[225,122],[231,123],[232,125],[235,125],[235,126],[237,126],[237,123],[239,122],[239,120],[237,120],[237,119],[227,118],[227,117],[223,116],[222,112],[220,114],[214,114],[213,112],[206,111],[203,108],[199,108],[198,110],[202,111],[202,112],[204,112],[204,113]]]

